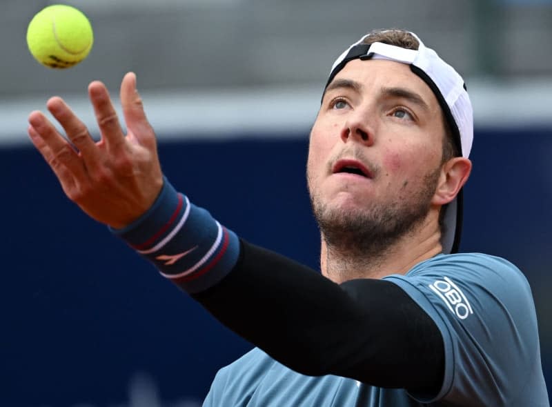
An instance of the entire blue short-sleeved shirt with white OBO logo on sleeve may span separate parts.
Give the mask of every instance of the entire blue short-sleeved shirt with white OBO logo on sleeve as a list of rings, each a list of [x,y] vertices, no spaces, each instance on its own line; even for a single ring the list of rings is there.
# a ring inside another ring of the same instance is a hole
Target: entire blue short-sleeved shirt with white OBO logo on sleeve
[[[416,301],[442,334],[437,394],[301,375],[255,348],[219,370],[204,407],[550,406],[531,288],[513,264],[479,253],[438,255],[384,279]]]

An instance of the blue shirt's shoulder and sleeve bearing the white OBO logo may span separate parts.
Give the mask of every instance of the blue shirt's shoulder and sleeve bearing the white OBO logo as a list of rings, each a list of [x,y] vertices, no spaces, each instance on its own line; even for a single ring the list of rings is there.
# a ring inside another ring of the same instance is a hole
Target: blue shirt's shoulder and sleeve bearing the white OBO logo
[[[535,305],[529,282],[510,261],[481,253],[438,255],[386,279],[441,331],[445,371],[437,399],[514,406],[530,393],[540,397]]]

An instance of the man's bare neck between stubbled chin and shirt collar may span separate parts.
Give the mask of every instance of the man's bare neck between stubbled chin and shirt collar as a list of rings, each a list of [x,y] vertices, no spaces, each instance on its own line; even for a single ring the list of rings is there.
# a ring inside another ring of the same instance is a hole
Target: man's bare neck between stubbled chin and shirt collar
[[[322,274],[340,284],[351,279],[381,279],[391,274],[406,274],[421,261],[442,251],[436,217],[428,217],[418,228],[386,247],[373,252],[328,244],[322,236],[320,265]]]

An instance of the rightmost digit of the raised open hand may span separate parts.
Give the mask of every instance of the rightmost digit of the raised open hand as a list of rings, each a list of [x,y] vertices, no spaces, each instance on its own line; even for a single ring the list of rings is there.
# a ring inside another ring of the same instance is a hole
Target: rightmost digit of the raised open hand
[[[144,104],[136,89],[136,74],[128,72],[121,82],[121,107],[128,132],[146,147],[155,146],[155,133],[144,112]]]

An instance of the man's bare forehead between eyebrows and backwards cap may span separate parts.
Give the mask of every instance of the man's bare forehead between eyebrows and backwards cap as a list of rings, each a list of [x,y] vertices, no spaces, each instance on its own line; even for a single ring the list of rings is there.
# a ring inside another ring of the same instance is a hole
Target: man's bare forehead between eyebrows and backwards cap
[[[404,88],[419,95],[432,111],[440,110],[433,91],[406,63],[387,59],[353,59],[335,75],[332,83],[338,79],[355,81],[362,86],[360,91],[371,94],[381,88]]]

